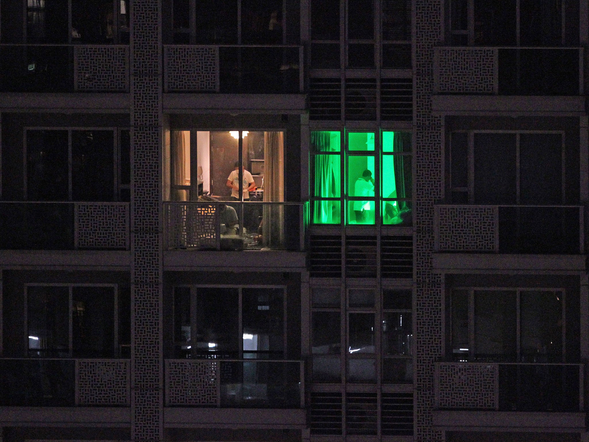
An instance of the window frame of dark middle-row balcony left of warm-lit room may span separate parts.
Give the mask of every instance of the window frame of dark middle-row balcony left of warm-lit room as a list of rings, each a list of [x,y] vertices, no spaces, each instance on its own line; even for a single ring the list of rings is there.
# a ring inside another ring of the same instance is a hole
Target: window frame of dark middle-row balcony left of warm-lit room
[[[67,202],[74,202],[72,199],[72,131],[111,131],[112,132],[112,199],[105,202],[119,202],[121,201],[121,190],[131,189],[131,183],[121,185],[120,174],[121,174],[121,151],[120,151],[120,138],[121,132],[129,130],[129,128],[114,127],[114,126],[89,126],[89,127],[78,127],[78,126],[25,126],[22,128],[22,163],[23,163],[23,200],[28,201],[28,149],[27,149],[27,131],[67,131],[68,132],[68,199]],[[131,137],[131,133],[130,133]],[[130,139],[130,144],[132,140]],[[132,163],[130,159],[130,164]],[[131,164],[131,182],[133,182],[133,166]],[[57,202],[57,201],[56,201]]]

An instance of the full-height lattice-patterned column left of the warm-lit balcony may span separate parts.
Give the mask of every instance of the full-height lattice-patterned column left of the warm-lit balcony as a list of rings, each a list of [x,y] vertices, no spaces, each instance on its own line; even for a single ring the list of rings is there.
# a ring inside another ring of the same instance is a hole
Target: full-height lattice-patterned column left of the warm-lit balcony
[[[131,438],[163,438],[161,4],[131,2]]]

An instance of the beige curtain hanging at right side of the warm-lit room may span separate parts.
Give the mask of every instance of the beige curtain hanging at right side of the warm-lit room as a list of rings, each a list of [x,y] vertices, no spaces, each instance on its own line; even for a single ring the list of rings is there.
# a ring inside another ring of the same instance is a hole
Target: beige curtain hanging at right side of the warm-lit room
[[[264,202],[284,201],[284,148],[282,132],[264,132]],[[264,247],[284,244],[284,206],[264,204]]]

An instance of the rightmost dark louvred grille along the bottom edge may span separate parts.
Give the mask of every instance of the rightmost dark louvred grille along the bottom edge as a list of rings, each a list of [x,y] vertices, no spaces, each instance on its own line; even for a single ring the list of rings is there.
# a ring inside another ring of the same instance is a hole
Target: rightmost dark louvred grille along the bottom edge
[[[380,397],[382,436],[413,436],[413,393],[383,393]]]

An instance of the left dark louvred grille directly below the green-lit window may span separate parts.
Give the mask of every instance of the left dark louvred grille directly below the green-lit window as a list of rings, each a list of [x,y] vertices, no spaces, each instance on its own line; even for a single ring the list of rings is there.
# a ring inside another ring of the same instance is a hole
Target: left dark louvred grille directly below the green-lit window
[[[309,240],[310,275],[315,278],[341,278],[342,237],[311,235]]]

